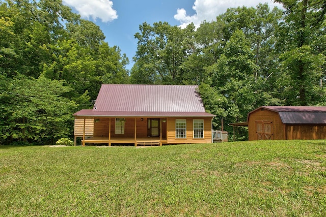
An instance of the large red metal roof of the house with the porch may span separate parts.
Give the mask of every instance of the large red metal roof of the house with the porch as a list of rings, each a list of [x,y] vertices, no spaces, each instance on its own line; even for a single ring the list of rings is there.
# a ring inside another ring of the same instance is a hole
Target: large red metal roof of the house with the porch
[[[93,109],[78,116],[215,116],[193,85],[102,84]]]

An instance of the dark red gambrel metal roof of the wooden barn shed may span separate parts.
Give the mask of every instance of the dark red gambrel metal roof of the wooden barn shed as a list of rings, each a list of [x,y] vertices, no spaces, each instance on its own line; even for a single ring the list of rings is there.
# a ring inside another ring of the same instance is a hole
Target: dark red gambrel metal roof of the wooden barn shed
[[[259,109],[267,109],[278,112],[283,123],[291,124],[326,124],[326,106],[261,106]]]

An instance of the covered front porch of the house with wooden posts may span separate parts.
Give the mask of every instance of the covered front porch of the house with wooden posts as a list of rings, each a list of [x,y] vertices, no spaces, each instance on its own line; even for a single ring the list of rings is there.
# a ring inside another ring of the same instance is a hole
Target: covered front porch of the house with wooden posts
[[[153,146],[167,143],[167,118],[162,117],[92,117],[93,134],[87,133],[90,117],[83,117],[82,145],[86,143],[134,144]]]

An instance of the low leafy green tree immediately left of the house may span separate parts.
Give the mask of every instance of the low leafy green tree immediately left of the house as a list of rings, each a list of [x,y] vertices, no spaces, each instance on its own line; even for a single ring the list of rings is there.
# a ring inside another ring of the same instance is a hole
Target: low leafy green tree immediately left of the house
[[[63,84],[44,76],[13,79],[2,97],[2,139],[52,143],[70,135],[75,103],[63,97],[71,90]]]

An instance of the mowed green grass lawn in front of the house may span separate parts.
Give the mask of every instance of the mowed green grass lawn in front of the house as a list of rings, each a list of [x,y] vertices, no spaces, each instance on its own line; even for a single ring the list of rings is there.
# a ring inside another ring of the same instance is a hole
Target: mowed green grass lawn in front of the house
[[[326,141],[0,146],[0,216],[326,216]]]

